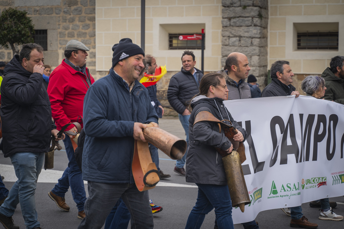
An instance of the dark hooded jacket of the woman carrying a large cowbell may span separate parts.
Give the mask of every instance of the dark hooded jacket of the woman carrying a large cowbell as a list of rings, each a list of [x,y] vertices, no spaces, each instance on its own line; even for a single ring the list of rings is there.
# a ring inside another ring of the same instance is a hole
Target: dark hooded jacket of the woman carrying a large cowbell
[[[201,111],[212,113],[219,120],[230,120],[244,136],[247,132],[234,121],[223,100],[207,98],[205,95],[195,97],[191,102],[192,112],[189,119],[189,148],[186,156],[186,182],[200,184],[227,185],[222,156],[214,147],[227,150],[232,145],[225,136],[224,130],[219,133],[219,127],[213,122],[198,122],[195,117]],[[227,124],[230,124],[227,122]]]

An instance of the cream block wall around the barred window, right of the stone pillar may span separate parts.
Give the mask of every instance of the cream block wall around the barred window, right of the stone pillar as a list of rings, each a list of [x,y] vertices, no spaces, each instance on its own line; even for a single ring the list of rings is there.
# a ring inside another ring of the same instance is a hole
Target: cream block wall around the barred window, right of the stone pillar
[[[293,85],[303,93],[304,76],[321,76],[332,57],[344,55],[343,25],[343,0],[270,0],[268,69],[276,60],[288,60]],[[298,49],[299,32],[337,32],[338,49]]]

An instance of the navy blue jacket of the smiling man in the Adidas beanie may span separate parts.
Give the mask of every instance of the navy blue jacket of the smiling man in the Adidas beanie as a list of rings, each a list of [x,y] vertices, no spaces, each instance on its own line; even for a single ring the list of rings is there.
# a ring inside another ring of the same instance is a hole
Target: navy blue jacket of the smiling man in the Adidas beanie
[[[131,171],[134,122],[158,123],[147,89],[128,85],[113,69],[87,90],[84,99],[83,179],[135,183]]]

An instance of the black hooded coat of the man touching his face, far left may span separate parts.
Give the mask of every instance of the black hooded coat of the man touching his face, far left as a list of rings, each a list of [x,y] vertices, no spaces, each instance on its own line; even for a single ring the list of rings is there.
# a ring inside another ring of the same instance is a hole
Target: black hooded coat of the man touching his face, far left
[[[18,152],[47,152],[51,130],[56,126],[42,75],[24,69],[19,55],[14,55],[4,69],[0,92],[4,157]]]

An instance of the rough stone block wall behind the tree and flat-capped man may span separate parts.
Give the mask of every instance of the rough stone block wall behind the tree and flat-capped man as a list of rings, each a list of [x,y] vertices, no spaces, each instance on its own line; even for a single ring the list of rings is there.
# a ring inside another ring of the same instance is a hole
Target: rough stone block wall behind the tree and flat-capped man
[[[44,3],[44,4],[43,4]],[[96,28],[95,0],[3,0],[0,1],[1,12],[8,7],[28,12],[34,29],[47,30],[48,50],[44,51],[44,63],[55,68],[64,59],[67,42],[76,39],[84,43],[90,51],[87,67],[96,78],[105,76],[106,72],[96,72]],[[0,60],[12,59],[12,50],[0,48]]]

